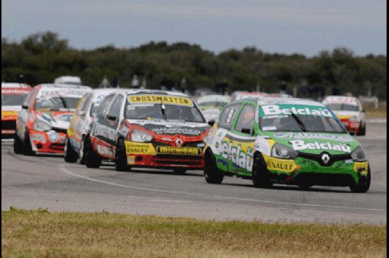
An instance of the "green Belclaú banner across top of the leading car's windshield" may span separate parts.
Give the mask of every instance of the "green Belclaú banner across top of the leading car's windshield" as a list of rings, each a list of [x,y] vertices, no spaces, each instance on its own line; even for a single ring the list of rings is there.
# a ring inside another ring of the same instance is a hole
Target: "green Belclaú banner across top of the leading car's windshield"
[[[307,106],[307,105],[263,105],[261,106],[260,116],[264,117],[267,115],[288,115],[288,114],[299,114],[299,115],[315,115],[332,117],[331,111],[326,107],[319,106]]]

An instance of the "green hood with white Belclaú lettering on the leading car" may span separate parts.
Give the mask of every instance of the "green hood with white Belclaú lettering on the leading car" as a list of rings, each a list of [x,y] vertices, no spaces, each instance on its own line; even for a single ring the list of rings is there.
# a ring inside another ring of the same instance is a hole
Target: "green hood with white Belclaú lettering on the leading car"
[[[350,134],[317,132],[265,132],[277,143],[299,152],[320,154],[350,154],[360,144]]]

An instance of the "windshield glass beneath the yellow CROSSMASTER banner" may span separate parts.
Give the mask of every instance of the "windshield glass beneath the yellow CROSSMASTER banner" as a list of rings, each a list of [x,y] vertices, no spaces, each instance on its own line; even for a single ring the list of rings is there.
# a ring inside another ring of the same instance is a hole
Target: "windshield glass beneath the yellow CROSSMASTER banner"
[[[205,123],[201,112],[194,105],[178,105],[167,103],[147,103],[146,101],[133,102],[127,99],[125,108],[125,118],[127,119],[165,119],[180,120],[185,122]],[[179,98],[192,101],[189,98]]]

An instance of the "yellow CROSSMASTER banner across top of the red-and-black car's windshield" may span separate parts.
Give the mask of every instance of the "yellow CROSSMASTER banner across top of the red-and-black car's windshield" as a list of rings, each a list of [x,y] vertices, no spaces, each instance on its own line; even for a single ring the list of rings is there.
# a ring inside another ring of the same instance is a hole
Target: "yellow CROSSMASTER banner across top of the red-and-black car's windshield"
[[[170,95],[129,95],[129,103],[163,103],[180,106],[193,106],[193,102],[188,97],[170,96]]]

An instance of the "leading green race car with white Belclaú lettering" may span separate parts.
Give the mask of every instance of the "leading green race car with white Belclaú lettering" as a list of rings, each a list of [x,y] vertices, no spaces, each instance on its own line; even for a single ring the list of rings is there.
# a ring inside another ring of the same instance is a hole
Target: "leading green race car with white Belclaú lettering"
[[[316,101],[245,99],[224,107],[205,138],[204,176],[251,179],[256,187],[295,184],[350,186],[367,192],[366,153],[336,115]]]

